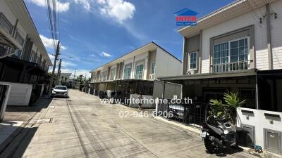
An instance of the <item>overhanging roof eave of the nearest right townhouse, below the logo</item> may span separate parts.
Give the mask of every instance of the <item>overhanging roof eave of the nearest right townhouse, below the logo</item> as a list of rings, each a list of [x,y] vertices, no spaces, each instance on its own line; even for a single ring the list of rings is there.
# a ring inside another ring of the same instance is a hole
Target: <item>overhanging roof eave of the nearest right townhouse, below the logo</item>
[[[213,11],[202,18],[197,20],[195,26],[180,27],[178,32],[183,37],[192,37],[200,32],[202,29],[207,29],[214,25],[218,25],[226,20],[243,15],[244,13],[254,11],[256,8],[262,7],[266,4],[270,4],[277,0],[238,0],[233,1],[231,4],[223,6],[222,8]]]

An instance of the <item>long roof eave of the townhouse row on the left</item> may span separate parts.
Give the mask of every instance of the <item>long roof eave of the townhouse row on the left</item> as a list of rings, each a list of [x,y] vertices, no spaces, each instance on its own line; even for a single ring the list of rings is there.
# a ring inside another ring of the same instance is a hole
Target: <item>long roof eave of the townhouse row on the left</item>
[[[37,28],[35,27],[35,23],[33,22],[30,13],[28,12],[27,7],[25,6],[25,2],[23,0],[5,2],[11,9],[13,14],[16,16],[16,18],[20,19],[20,25],[22,25],[22,27],[27,32],[28,37],[32,39],[34,44],[42,53],[44,59],[46,60],[46,63],[51,66],[52,62],[49,58],[49,55],[41,38],[39,37]]]

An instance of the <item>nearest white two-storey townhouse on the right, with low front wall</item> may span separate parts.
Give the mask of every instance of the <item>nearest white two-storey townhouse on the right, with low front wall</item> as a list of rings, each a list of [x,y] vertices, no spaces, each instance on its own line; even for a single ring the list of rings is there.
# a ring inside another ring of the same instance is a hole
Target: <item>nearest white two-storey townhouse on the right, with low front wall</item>
[[[182,27],[182,75],[159,77],[201,103],[236,91],[249,146],[282,154],[282,1],[238,0]]]

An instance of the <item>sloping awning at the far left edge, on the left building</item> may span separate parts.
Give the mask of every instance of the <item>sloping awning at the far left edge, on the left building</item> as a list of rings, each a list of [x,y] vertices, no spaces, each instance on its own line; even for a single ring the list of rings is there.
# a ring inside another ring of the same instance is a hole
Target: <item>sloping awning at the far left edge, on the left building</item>
[[[22,46],[18,44],[18,41],[16,41],[16,39],[13,39],[11,34],[8,34],[2,27],[0,27],[0,44],[4,46],[9,46],[15,49],[22,48]]]

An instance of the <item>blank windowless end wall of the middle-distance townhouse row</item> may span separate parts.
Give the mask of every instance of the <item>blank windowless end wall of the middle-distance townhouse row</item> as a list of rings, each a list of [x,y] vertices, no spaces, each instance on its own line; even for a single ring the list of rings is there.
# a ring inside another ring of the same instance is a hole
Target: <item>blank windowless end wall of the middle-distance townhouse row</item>
[[[182,63],[161,48],[157,48],[155,76],[169,77],[182,74]]]

